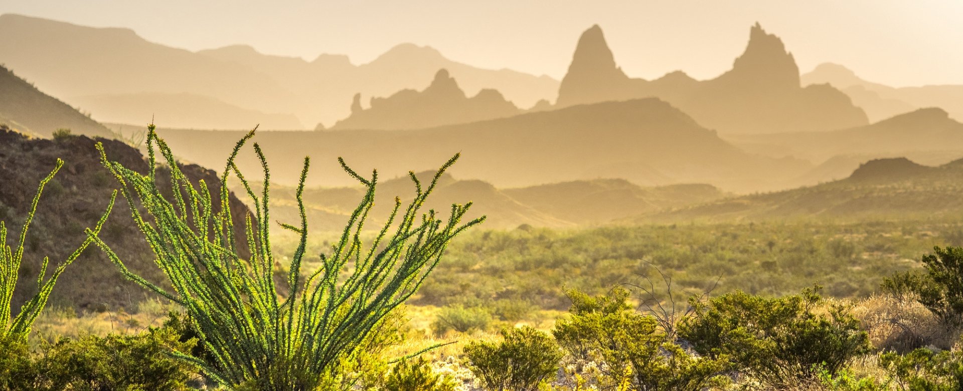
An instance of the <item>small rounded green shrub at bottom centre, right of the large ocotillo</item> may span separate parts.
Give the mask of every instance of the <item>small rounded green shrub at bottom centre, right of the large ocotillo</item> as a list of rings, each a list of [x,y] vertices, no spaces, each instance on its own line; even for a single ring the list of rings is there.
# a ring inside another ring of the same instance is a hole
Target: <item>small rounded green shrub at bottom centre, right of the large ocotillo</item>
[[[489,391],[534,391],[556,376],[562,352],[552,337],[530,326],[502,330],[501,342],[473,341],[467,365]]]

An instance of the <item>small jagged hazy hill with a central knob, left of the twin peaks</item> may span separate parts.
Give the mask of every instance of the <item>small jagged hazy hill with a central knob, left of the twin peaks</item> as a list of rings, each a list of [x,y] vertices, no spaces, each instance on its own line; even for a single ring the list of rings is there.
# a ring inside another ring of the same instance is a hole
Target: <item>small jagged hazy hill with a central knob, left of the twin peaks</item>
[[[351,117],[331,129],[417,129],[511,117],[521,112],[498,91],[481,90],[473,97],[465,96],[445,69],[439,70],[423,91],[403,90],[384,98],[373,97],[368,109],[362,109],[360,99],[360,94],[354,95]]]

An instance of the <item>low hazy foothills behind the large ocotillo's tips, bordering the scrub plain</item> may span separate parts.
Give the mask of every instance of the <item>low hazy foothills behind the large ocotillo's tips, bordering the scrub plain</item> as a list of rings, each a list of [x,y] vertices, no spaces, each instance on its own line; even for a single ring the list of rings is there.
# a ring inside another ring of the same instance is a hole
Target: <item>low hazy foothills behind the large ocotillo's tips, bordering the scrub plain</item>
[[[430,180],[433,171],[418,173]],[[272,189],[273,216],[281,221],[297,220],[299,209],[294,187]],[[394,197],[410,200],[414,187],[406,178],[386,180],[377,187],[373,222],[383,219],[394,205]],[[319,231],[340,231],[348,222],[364,189],[309,188],[304,191],[308,221]],[[486,216],[488,229],[513,229],[519,226],[568,228],[597,225],[623,219],[627,215],[655,213],[708,202],[726,196],[711,185],[687,184],[640,187],[624,179],[591,179],[513,189],[498,189],[490,183],[460,180],[446,173],[438,182],[427,207],[447,210],[458,200],[474,204],[467,218]]]

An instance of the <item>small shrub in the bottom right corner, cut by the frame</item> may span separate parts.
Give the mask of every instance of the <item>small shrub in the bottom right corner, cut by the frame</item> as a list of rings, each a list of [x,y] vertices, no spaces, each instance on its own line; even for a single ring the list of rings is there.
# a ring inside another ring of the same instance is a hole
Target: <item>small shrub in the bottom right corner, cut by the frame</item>
[[[963,388],[963,357],[960,352],[917,349],[907,354],[886,352],[879,357],[902,390],[956,391]]]

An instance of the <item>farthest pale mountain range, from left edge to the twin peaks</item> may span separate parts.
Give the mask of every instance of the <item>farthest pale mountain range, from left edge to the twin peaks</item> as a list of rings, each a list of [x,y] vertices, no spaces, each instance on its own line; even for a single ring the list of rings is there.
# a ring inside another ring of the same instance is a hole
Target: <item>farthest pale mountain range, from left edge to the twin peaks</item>
[[[323,54],[304,61],[248,46],[190,52],[149,42],[128,29],[16,14],[0,15],[0,59],[71,105],[91,107],[98,120],[144,123],[149,116],[129,116],[147,112],[159,122],[195,128],[198,123],[217,123],[217,128],[261,123],[275,129],[313,128],[320,121],[330,125],[350,115],[355,93],[387,96],[423,88],[441,68],[470,95],[495,89],[521,107],[553,98],[559,88],[546,76],[459,64],[413,44],[353,65],[346,56]],[[185,100],[184,93],[192,97]],[[244,124],[235,116],[243,116]]]

